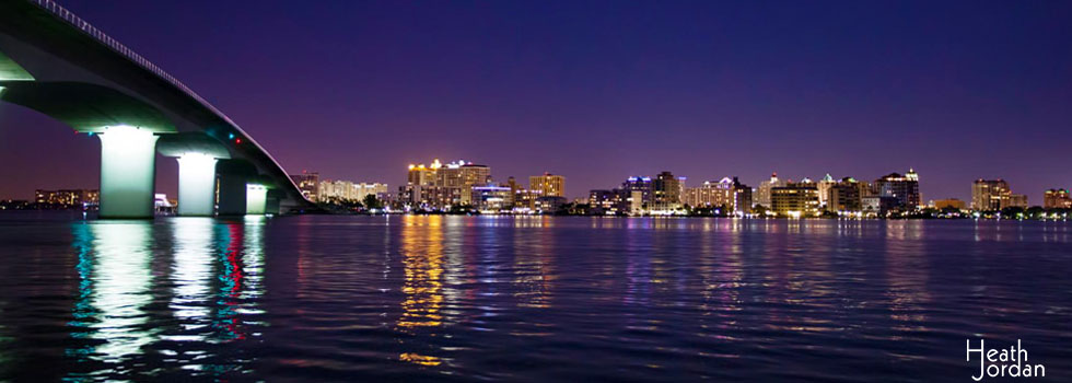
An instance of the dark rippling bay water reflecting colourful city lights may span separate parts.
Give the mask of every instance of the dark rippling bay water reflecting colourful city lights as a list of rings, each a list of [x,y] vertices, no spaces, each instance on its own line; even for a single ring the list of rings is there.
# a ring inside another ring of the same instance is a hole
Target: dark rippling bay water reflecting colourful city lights
[[[0,214],[0,381],[1072,374],[1072,223]]]

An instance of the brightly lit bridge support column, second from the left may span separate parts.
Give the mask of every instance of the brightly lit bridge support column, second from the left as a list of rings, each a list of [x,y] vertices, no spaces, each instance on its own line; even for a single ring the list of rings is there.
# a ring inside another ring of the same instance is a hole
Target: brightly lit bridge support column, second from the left
[[[215,207],[215,158],[186,153],[178,158],[178,214],[211,217]]]

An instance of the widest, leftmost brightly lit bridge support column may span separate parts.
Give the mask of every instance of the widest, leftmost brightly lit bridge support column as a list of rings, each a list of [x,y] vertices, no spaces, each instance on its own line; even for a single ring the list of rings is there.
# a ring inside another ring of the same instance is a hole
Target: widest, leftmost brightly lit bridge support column
[[[114,126],[101,137],[101,218],[152,218],[158,137]]]

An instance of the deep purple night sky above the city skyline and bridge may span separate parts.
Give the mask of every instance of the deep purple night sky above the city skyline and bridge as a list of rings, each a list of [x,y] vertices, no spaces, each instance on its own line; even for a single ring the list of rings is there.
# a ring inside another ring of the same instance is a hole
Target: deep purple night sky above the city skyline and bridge
[[[1072,186],[1069,1],[61,1],[291,172],[458,158],[570,197],[669,170],[872,181],[924,201]],[[97,138],[0,104],[0,198],[96,188]],[[177,165],[161,159],[160,192]]]

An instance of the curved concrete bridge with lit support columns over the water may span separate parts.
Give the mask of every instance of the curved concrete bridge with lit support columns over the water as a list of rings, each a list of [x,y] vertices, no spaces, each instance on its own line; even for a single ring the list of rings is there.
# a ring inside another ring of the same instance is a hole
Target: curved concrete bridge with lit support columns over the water
[[[312,207],[231,118],[51,0],[0,0],[0,100],[101,138],[101,218],[153,216],[158,152],[178,161],[182,216]]]

